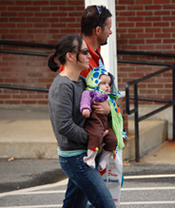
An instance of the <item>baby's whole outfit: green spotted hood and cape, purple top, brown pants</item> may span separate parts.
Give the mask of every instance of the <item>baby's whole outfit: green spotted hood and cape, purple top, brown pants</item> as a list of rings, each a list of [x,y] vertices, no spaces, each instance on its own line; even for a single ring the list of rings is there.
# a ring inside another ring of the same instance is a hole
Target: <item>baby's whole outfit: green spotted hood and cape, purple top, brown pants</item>
[[[103,92],[98,87],[101,81],[100,76],[102,74],[109,75],[111,78],[112,84],[110,93]],[[93,68],[86,78],[87,88],[86,91],[84,91],[82,94],[80,111],[82,112],[83,109],[89,109],[91,111],[91,104],[94,101],[103,102],[105,99],[108,99],[112,116],[112,120],[110,122],[112,129],[109,126],[108,118],[106,115],[101,115],[95,111],[92,111],[90,118],[87,119],[85,130],[87,130],[89,134],[88,154],[91,155],[90,158],[96,156],[96,154],[92,153],[92,151],[97,151],[100,149],[101,143],[103,141],[102,135],[106,129],[109,129],[109,134],[104,138],[104,150],[107,152],[115,152],[117,145],[119,150],[124,147],[122,136],[123,119],[120,113],[120,108],[116,104],[116,100],[119,97],[119,91],[115,87],[114,79],[114,76],[106,71],[101,60],[99,61],[99,67]],[[94,163],[92,164],[92,167],[94,167]]]

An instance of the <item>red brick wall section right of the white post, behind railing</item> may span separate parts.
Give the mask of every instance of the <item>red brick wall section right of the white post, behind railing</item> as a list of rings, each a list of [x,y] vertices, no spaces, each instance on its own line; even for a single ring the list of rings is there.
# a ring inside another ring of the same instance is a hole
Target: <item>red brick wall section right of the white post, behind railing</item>
[[[175,0],[117,0],[117,48],[175,54]],[[173,63],[174,58],[129,56],[118,59]],[[118,64],[119,89],[131,80],[155,72],[164,66]],[[131,92],[133,89],[131,88]],[[172,98],[172,71],[139,85],[139,96]],[[150,102],[149,102],[150,103]]]

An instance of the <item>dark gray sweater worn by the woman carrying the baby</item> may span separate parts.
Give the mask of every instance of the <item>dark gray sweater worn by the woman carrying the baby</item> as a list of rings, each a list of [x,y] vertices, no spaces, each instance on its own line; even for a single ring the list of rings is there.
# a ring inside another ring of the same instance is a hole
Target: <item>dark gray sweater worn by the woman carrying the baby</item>
[[[86,118],[80,112],[85,87],[85,79],[81,76],[79,81],[71,81],[66,76],[57,75],[49,89],[50,119],[62,151],[87,149]]]

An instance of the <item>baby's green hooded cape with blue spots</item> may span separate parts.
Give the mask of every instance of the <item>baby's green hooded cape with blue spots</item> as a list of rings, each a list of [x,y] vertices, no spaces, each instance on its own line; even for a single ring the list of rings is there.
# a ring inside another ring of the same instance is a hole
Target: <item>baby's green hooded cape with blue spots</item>
[[[103,92],[102,90],[99,90],[98,88],[98,85],[101,81],[100,76],[102,74],[109,75],[112,79],[112,86],[111,86],[110,93]],[[87,84],[86,90],[90,90],[90,91],[93,90],[93,91],[98,91],[100,93],[108,94],[108,100],[109,100],[109,105],[111,107],[111,115],[112,115],[112,121],[110,125],[117,137],[118,149],[121,150],[125,146],[123,142],[123,135],[122,135],[123,134],[123,119],[119,111],[119,107],[116,104],[116,100],[118,99],[120,92],[118,89],[116,89],[115,77],[111,73],[106,71],[102,61],[99,60],[99,67],[93,68],[87,75],[86,84]]]

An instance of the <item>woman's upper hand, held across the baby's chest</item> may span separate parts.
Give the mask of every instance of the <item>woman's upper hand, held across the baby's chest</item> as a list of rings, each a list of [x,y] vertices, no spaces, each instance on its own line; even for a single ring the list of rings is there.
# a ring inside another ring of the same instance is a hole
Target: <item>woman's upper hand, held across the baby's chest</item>
[[[104,102],[94,102],[92,104],[92,108],[95,110],[96,113],[100,114],[109,115],[111,112],[108,100],[105,100]]]

